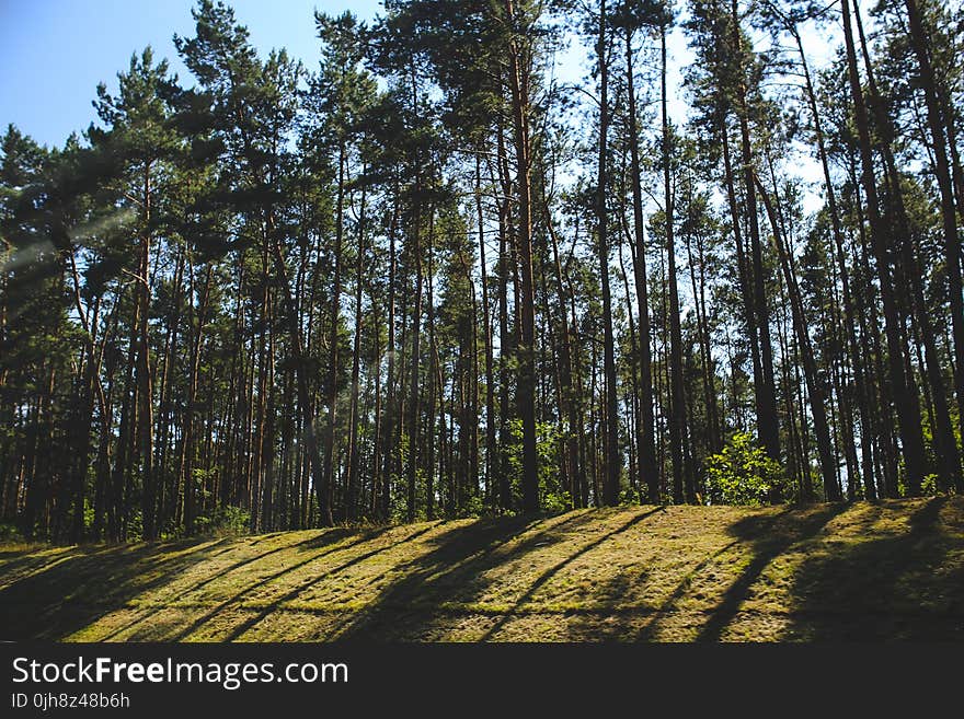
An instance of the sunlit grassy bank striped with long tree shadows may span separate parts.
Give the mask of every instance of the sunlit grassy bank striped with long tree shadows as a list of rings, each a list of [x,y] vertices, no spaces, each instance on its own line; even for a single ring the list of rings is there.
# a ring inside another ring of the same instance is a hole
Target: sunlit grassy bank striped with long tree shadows
[[[964,497],[0,547],[0,640],[964,640]]]

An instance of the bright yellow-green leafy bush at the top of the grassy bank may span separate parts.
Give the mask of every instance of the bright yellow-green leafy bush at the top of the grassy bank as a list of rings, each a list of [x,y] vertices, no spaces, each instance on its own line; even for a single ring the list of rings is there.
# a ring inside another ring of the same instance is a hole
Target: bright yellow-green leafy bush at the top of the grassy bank
[[[736,432],[722,452],[708,456],[705,468],[711,505],[760,507],[785,484],[780,465],[746,432]]]

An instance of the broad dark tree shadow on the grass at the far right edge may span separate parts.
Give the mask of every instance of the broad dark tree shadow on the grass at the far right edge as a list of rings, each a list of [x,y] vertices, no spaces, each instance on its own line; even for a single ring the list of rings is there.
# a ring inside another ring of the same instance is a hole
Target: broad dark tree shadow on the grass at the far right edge
[[[792,623],[781,638],[964,639],[964,537],[948,531],[946,506],[946,497],[930,499],[906,531],[807,558],[794,575]]]

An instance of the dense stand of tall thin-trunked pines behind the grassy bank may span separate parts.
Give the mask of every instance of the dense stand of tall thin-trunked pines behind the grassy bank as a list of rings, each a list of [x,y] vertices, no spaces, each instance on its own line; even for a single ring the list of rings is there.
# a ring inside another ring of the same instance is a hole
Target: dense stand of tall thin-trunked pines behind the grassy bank
[[[2,136],[0,529],[962,492],[964,5],[869,5],[385,0],[303,65],[198,0],[191,77]]]

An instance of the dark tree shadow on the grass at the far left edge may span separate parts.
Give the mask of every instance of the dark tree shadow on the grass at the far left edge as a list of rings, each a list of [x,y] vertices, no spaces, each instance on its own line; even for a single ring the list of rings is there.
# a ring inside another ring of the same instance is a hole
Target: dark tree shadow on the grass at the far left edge
[[[209,558],[221,542],[80,546],[25,564],[20,570],[28,571],[0,589],[0,639],[62,639]]]

